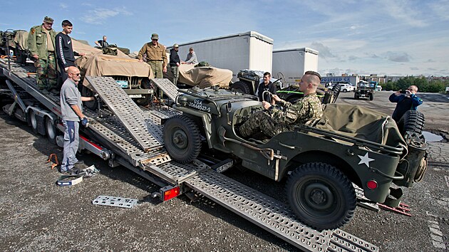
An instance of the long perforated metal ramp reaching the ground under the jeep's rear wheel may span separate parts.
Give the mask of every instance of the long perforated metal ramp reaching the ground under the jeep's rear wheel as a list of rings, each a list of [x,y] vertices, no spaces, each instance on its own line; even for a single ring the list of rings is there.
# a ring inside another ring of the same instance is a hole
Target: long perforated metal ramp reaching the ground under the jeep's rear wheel
[[[192,189],[304,251],[378,251],[341,229],[315,231],[296,220],[288,206],[213,170],[185,181]]]

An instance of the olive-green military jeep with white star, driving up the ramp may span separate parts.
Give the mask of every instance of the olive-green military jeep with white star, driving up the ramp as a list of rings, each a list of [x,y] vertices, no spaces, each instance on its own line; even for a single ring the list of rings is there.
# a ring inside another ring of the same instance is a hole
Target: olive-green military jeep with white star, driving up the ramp
[[[167,152],[177,162],[192,162],[202,148],[232,157],[241,166],[285,184],[296,216],[315,229],[336,229],[353,216],[358,198],[398,206],[401,188],[422,179],[427,167],[422,114],[399,129],[383,113],[356,105],[325,105],[324,115],[267,140],[244,139],[236,127],[262,103],[229,90],[179,90],[173,107],[182,115],[164,125]],[[280,108],[282,109],[282,108]],[[418,111],[415,111],[418,112]]]

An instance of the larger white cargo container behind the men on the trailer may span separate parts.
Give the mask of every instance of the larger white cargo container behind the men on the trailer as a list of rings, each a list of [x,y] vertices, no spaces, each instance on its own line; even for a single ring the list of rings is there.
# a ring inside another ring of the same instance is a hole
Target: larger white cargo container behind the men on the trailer
[[[272,71],[273,39],[256,31],[180,43],[179,46],[181,61],[185,61],[192,47],[199,62],[232,70],[233,82],[242,69]]]

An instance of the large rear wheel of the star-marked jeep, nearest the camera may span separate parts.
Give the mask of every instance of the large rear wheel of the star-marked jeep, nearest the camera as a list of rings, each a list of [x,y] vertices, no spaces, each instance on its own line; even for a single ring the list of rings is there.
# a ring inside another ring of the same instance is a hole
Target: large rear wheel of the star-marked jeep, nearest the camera
[[[356,193],[349,179],[324,163],[303,164],[290,175],[287,198],[296,216],[314,229],[336,229],[351,220]]]

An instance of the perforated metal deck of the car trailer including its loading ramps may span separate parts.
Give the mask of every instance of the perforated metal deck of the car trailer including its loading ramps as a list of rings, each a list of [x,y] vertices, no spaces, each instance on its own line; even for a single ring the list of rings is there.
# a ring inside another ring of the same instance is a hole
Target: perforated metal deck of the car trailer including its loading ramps
[[[28,77],[33,66],[10,64],[9,68],[9,63],[0,60],[1,73],[14,83],[10,89],[19,94],[17,99],[24,93],[27,99],[31,96],[42,109],[60,117],[59,98],[38,90],[35,79]],[[110,165],[122,164],[161,187],[169,184],[193,189],[304,251],[378,251],[378,246],[341,229],[320,232],[301,224],[288,205],[215,172],[199,160],[190,164],[172,161],[163,147],[161,122],[177,112],[138,107],[112,78],[86,80],[110,110],[85,110],[90,123],[82,132],[80,146],[108,160]],[[152,82],[170,99],[175,98],[177,90],[170,81]]]

